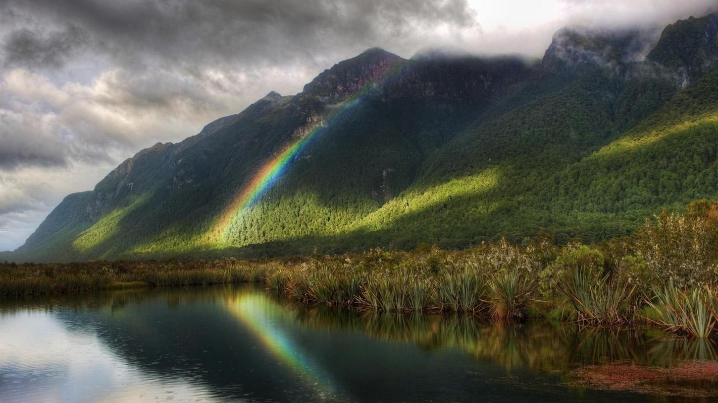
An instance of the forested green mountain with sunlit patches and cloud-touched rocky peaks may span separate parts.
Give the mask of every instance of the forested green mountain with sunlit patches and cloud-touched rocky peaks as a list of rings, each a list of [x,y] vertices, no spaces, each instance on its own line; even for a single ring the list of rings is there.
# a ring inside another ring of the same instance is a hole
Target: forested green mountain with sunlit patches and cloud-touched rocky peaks
[[[368,49],[67,196],[17,261],[623,236],[718,197],[715,14],[556,32],[541,60]]]

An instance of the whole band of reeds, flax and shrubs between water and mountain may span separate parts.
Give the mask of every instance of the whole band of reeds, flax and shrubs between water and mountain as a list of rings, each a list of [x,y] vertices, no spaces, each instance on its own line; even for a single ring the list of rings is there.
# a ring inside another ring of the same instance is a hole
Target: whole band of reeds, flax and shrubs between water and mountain
[[[6,263],[0,294],[259,282],[309,304],[582,326],[651,324],[706,338],[718,331],[716,278],[718,203],[699,200],[685,213],[666,210],[646,220],[633,236],[593,246],[558,247],[542,235],[463,251],[424,245],[262,261]]]

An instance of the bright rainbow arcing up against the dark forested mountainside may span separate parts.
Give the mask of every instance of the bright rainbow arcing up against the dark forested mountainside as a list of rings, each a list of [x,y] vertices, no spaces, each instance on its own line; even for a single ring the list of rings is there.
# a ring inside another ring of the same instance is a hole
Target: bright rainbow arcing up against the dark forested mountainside
[[[400,69],[398,69],[400,65],[399,63],[394,64],[391,69],[389,69],[385,79],[400,71]],[[215,236],[219,236],[221,240],[228,241],[235,223],[246,215],[253,205],[256,205],[258,200],[277,183],[289,167],[292,166],[292,163],[297,160],[299,154],[312,143],[312,140],[317,138],[332,122],[340,119],[342,115],[346,115],[347,112],[353,110],[357,105],[360,105],[365,100],[367,94],[370,94],[371,89],[374,89],[376,86],[376,82],[365,84],[355,95],[335,106],[334,110],[325,120],[319,120],[314,123],[299,140],[290,143],[284,150],[279,152],[279,154],[265,162],[249,183],[247,183],[241,192],[232,200],[232,203],[223,210],[210,232],[215,234]]]

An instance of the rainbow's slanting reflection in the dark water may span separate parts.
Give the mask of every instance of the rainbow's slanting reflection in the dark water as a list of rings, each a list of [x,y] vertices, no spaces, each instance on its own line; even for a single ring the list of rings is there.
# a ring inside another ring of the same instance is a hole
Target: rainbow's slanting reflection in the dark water
[[[309,356],[302,354],[289,334],[278,326],[285,320],[294,321],[287,317],[281,306],[272,304],[264,293],[245,293],[237,298],[228,298],[226,307],[230,314],[251,331],[266,351],[276,356],[294,375],[303,379],[320,397],[334,394],[335,388],[332,387],[329,377],[319,370]]]

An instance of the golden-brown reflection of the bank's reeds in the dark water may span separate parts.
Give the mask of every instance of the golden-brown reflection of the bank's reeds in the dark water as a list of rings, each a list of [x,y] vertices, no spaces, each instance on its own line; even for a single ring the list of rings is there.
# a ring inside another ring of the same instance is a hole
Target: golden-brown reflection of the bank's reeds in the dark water
[[[322,306],[274,298],[297,312],[312,329],[352,331],[389,342],[412,343],[426,351],[460,349],[507,371],[565,371],[576,366],[628,361],[671,366],[685,360],[717,360],[713,340],[688,339],[645,328],[579,328],[569,324],[505,324],[465,315],[404,315]]]

